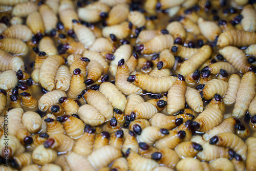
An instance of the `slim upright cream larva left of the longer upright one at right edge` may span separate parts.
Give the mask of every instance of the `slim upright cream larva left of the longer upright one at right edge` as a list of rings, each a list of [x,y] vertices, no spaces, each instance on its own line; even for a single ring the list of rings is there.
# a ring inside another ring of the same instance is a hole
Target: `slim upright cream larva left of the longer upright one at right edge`
[[[241,77],[238,74],[232,74],[228,80],[227,92],[223,98],[225,105],[230,106],[234,104],[237,98],[237,93],[240,85]]]

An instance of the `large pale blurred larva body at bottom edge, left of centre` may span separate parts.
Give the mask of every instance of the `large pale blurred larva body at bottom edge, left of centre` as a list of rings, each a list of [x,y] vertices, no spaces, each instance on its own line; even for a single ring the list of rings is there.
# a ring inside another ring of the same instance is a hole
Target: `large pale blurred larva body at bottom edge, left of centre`
[[[108,166],[110,163],[112,163],[112,161],[121,156],[122,153],[120,149],[117,149],[111,145],[105,145],[93,151],[87,157],[87,159],[90,161],[94,168],[99,169],[101,167]]]

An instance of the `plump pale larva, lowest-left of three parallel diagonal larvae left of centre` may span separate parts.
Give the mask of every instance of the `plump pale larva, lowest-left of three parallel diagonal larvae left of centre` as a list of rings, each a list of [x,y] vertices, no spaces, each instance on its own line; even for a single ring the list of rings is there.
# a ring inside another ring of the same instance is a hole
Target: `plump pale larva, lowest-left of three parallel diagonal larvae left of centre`
[[[91,126],[98,126],[105,122],[105,117],[89,104],[80,106],[77,114],[84,123],[90,124]]]

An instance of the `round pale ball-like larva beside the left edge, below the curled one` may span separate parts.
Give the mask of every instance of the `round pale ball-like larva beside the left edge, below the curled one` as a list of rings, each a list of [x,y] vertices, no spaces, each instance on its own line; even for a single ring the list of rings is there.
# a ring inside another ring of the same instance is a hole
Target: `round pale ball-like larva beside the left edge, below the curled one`
[[[28,132],[35,134],[41,130],[42,120],[39,114],[35,112],[25,112],[22,115],[22,123]]]

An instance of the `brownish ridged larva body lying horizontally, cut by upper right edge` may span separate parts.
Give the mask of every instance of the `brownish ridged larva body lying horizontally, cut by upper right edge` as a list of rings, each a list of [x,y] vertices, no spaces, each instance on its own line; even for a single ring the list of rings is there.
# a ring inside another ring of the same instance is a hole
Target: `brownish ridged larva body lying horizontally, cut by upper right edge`
[[[221,33],[218,37],[217,46],[245,47],[256,44],[256,33],[243,30],[229,30]]]

